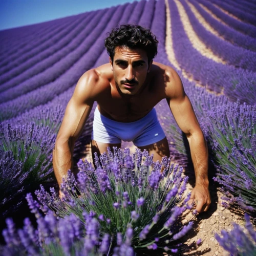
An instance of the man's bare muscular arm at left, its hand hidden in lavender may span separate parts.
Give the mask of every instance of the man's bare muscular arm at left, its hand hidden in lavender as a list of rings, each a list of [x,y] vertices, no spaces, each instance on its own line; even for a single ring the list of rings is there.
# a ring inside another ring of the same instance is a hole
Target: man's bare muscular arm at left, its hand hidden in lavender
[[[97,74],[93,70],[84,73],[67,105],[53,149],[53,169],[59,185],[68,169],[73,169],[74,144],[92,110],[96,82]]]

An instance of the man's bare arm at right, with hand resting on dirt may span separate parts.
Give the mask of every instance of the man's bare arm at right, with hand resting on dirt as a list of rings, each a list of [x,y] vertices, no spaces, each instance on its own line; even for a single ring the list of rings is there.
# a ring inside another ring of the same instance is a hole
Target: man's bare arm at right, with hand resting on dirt
[[[187,137],[195,169],[196,186],[190,203],[198,200],[198,212],[206,211],[210,204],[207,144],[179,75],[174,70],[167,71],[167,75],[170,79],[166,86],[166,99],[177,124]]]

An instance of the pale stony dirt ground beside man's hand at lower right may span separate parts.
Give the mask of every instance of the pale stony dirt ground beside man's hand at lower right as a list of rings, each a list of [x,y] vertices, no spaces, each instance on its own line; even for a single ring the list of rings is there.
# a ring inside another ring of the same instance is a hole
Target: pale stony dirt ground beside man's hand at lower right
[[[192,186],[189,184],[188,191],[192,190]],[[236,222],[239,225],[244,225],[243,212],[232,212],[230,209],[226,209],[221,206],[221,197],[223,194],[220,192],[216,184],[209,186],[211,196],[211,206],[207,212],[199,214],[194,218],[194,228],[189,232],[182,240],[184,244],[195,244],[198,239],[202,242],[197,248],[190,248],[190,251],[185,252],[184,255],[229,255],[229,253],[223,250],[215,239],[215,233],[220,234],[221,230],[230,231],[232,229],[232,222]],[[183,221],[186,222],[192,217],[191,211],[184,213]]]

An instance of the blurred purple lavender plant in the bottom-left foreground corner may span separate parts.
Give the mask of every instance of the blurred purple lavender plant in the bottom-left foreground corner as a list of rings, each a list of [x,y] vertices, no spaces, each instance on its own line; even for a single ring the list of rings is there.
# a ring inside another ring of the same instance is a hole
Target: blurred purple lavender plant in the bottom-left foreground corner
[[[16,229],[12,219],[7,219],[3,230],[6,245],[0,246],[1,255],[106,255],[111,244],[109,234],[100,234],[99,221],[83,212],[83,222],[74,214],[58,219],[52,211],[37,219],[37,229],[30,220],[24,220],[23,229]],[[115,251],[133,249],[127,233],[125,243],[118,244]],[[117,255],[117,254],[116,254]],[[118,255],[122,255],[121,253]],[[124,255],[124,254],[123,254]]]

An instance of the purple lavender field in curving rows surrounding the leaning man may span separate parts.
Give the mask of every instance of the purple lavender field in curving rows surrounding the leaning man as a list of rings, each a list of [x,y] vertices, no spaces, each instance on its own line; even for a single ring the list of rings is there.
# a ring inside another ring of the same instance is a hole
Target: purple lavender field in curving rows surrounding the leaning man
[[[241,212],[242,218],[245,212],[248,214],[241,226],[249,230],[250,238],[241,231],[242,227],[234,226],[230,237],[224,231],[222,234],[218,232],[223,240],[218,234],[216,239],[226,250],[225,252],[229,251],[234,255],[238,252],[239,255],[253,255],[256,253],[256,233],[248,216],[255,225],[256,2],[254,0],[225,2],[142,0],[0,31],[1,232],[6,226],[8,227],[3,232],[0,242],[6,243],[7,246],[9,243],[9,247],[15,244],[13,242],[15,239],[12,237],[13,224],[10,219],[6,224],[7,218],[13,218],[18,228],[23,227],[25,217],[30,217],[34,226],[38,224],[34,216],[35,210],[34,212],[32,210],[33,214],[30,212],[33,202],[30,198],[29,209],[26,197],[28,200],[27,195],[34,196],[34,191],[41,189],[40,184],[46,189],[57,187],[53,174],[52,150],[66,106],[80,76],[92,68],[109,62],[109,56],[104,48],[106,33],[117,25],[126,23],[150,28],[156,35],[159,45],[154,60],[178,72],[207,140],[210,153],[210,184],[214,184],[220,191],[222,207],[229,211]],[[95,106],[96,102],[94,108]],[[159,102],[156,110],[169,141],[172,162],[183,167],[185,175],[190,175],[193,173],[191,172],[193,166],[187,141],[170,113],[167,102]],[[86,158],[84,151],[91,139],[93,112],[74,147],[75,165],[80,170],[82,169],[80,159]],[[123,143],[122,147],[131,145],[131,143]],[[128,161],[127,152],[125,154],[125,161]],[[185,184],[185,179],[183,181]],[[217,203],[212,201],[212,204]],[[78,221],[74,219],[77,217],[72,218],[73,221]],[[90,218],[84,224],[85,228],[88,228],[88,223],[92,221]],[[62,221],[63,225],[65,223],[69,225],[67,223],[71,223],[72,219],[64,218]],[[42,222],[40,223],[42,225]],[[20,241],[17,243],[23,246],[26,244],[25,239],[22,238],[25,237],[24,233],[29,233],[28,227],[32,224],[28,224],[27,219],[27,229],[18,232],[20,238],[15,241]],[[146,224],[148,223],[143,225]],[[227,227],[223,225],[223,229],[227,230]],[[132,248],[135,244],[137,246],[137,242],[134,242],[135,238],[132,240],[136,232],[133,233],[129,228],[127,230],[123,231],[123,236],[125,234],[126,242],[128,241],[125,246],[127,248]],[[142,234],[145,230],[142,229]],[[63,233],[61,234],[64,236]],[[78,238],[79,236],[76,237]],[[109,238],[106,235],[104,239],[106,241]],[[240,244],[237,244],[238,240]],[[248,241],[251,241],[251,244]],[[148,250],[156,249],[154,246],[157,246],[157,242],[156,240],[154,244],[151,243]],[[122,254],[121,243],[119,246],[116,255],[125,255]],[[141,244],[138,242],[139,246]],[[39,249],[35,248],[37,247],[34,246],[34,251],[31,250],[28,254],[36,255],[34,252],[39,254]],[[107,250],[100,248],[97,255],[107,254]],[[13,254],[16,252],[11,251]],[[176,252],[176,247],[167,250],[170,255]],[[219,255],[224,255],[223,250],[222,252],[220,251]],[[214,253],[215,250],[212,249],[198,255],[214,255]]]

